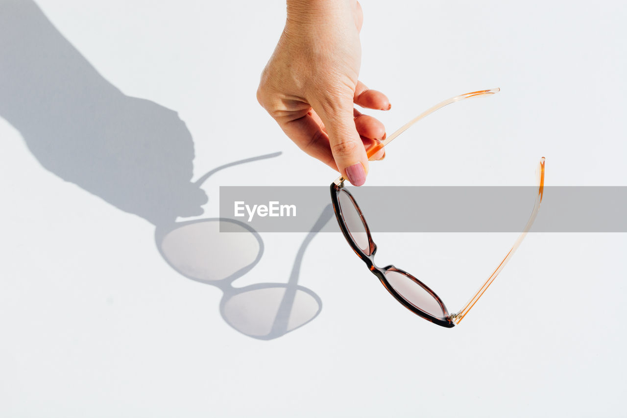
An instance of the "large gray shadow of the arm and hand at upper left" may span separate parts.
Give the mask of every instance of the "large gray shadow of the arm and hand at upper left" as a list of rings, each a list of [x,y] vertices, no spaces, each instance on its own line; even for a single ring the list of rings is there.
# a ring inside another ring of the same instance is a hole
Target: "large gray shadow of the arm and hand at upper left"
[[[156,224],[202,215],[176,112],[124,95],[29,0],[0,4],[0,116],[60,178]]]

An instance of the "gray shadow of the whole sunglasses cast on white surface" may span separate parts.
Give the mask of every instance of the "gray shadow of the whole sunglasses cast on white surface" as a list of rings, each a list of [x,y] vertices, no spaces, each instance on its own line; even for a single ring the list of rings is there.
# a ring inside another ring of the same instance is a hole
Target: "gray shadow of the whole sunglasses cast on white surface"
[[[197,183],[203,183],[219,169],[279,154],[225,164],[209,171]],[[155,230],[155,242],[172,269],[223,291],[219,309],[226,323],[252,338],[272,340],[312,321],[322,309],[320,297],[298,285],[298,278],[308,244],[333,215],[332,206],[327,205],[300,245],[287,283],[233,287],[234,280],[255,267],[264,250],[259,233],[238,220],[208,218],[174,222]],[[229,232],[220,232],[224,223],[229,223]]]

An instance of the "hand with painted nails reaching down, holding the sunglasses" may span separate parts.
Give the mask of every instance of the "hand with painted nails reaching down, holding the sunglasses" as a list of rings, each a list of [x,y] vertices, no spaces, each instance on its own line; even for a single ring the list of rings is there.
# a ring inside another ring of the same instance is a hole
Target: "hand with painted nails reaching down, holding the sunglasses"
[[[366,147],[385,128],[353,104],[391,108],[386,95],[357,79],[362,20],[355,0],[288,0],[285,29],[257,90],[260,104],[300,149],[355,186],[366,181]],[[374,159],[383,156],[380,150]]]

